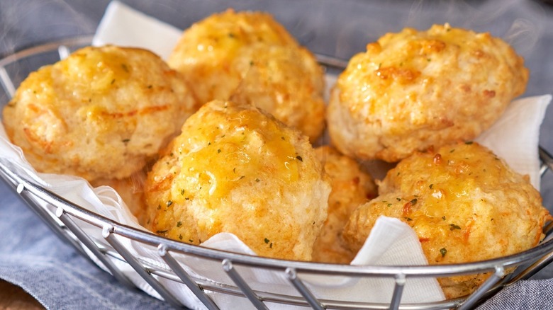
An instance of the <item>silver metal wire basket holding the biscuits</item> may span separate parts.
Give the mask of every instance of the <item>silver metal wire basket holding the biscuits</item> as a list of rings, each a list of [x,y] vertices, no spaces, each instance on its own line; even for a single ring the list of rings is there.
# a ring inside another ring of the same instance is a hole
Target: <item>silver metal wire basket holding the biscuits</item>
[[[0,93],[0,104],[5,105],[9,101],[16,85],[20,84],[30,71],[57,62],[72,51],[89,45],[90,42],[90,37],[52,42],[30,47],[0,59],[0,84],[4,88],[4,92]],[[340,71],[345,66],[345,62],[339,59],[323,56],[318,58],[328,70]],[[541,148],[540,158],[543,175],[553,168],[553,158]],[[552,225],[545,227],[546,239],[535,248],[516,255],[476,263],[425,266],[337,265],[247,256],[172,241],[89,212],[22,176],[13,165],[2,158],[0,176],[60,239],[72,244],[86,258],[110,272],[122,285],[134,287],[128,278],[128,270],[135,272],[159,294],[159,297],[176,307],[183,304],[164,286],[164,281],[170,280],[185,285],[208,309],[218,309],[218,304],[210,297],[211,293],[245,297],[257,309],[267,309],[266,303],[306,306],[313,309],[471,309],[501,287],[534,275],[553,260]],[[164,265],[136,256],[125,246],[125,241],[133,241],[154,249]],[[223,270],[230,281],[216,282],[189,272],[176,259],[182,255],[218,266],[216,268]],[[272,289],[252,288],[242,275],[245,268],[280,273],[286,278],[287,285],[297,294],[281,294]],[[515,272],[505,275],[508,273],[505,270],[513,268]],[[401,303],[403,288],[408,278],[449,277],[481,272],[491,272],[491,277],[467,297],[440,302]],[[393,280],[394,285],[388,303],[342,301],[315,297],[298,275],[386,277]]]

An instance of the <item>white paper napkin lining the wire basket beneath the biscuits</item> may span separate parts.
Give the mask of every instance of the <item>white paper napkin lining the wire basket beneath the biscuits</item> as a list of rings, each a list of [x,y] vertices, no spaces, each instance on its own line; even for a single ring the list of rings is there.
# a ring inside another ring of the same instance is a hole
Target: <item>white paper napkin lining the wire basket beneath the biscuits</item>
[[[167,59],[181,30],[172,25],[157,21],[155,18],[112,1],[102,19],[94,37],[94,45],[124,45],[143,47],[153,50]],[[329,80],[333,76],[328,76]],[[507,113],[490,130],[482,134],[477,141],[490,147],[499,156],[505,158],[511,167],[520,173],[530,175],[532,184],[539,188],[539,161],[537,157],[538,134],[545,109],[551,96],[524,98],[513,102]],[[9,161],[19,173],[50,188],[54,193],[67,197],[68,200],[110,219],[143,229],[125,207],[121,197],[111,188],[91,188],[86,181],[71,176],[55,176],[35,173],[22,156],[21,149],[9,142],[0,125],[0,160]],[[98,237],[101,239],[101,237]],[[155,248],[148,248],[133,241],[123,244],[135,256],[140,256],[153,265],[167,268],[157,256]],[[232,234],[218,234],[203,243],[203,246],[252,254],[247,246]],[[184,268],[197,277],[218,285],[218,282],[232,284],[225,275],[220,263],[210,263],[192,256],[179,256]],[[376,222],[369,238],[354,259],[354,265],[425,265],[427,263],[415,232],[398,219],[381,217]],[[145,281],[132,269],[120,265],[125,274],[145,292],[159,297]],[[295,294],[288,280],[281,274],[259,270],[240,270],[248,284],[279,294]],[[358,302],[389,302],[393,280],[383,278],[364,278],[351,280],[345,277],[321,277],[299,275],[306,281],[316,297],[323,299],[350,300]],[[174,292],[186,306],[192,309],[203,309],[203,305],[193,294],[172,280],[161,279],[167,288]],[[329,285],[330,283],[330,285]],[[209,292],[212,298],[223,308],[249,309],[252,306],[247,299],[225,294]],[[408,279],[403,292],[402,302],[433,302],[444,299],[442,290],[433,278]],[[288,307],[271,304],[272,308]]]

